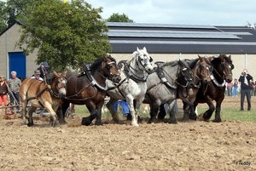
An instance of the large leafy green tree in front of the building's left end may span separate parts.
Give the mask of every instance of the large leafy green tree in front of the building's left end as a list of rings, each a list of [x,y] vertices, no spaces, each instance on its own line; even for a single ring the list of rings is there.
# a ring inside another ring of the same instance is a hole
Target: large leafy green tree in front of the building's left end
[[[38,48],[38,64],[48,61],[54,70],[78,69],[111,51],[108,26],[99,13],[102,8],[93,9],[84,0],[37,0],[20,12],[24,24],[16,45],[25,54]]]

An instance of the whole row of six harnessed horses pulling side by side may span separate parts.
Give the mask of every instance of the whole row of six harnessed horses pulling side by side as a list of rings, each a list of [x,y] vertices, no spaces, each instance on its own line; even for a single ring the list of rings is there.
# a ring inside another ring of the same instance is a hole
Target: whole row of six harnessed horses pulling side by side
[[[209,109],[203,114],[209,120],[215,111],[213,122],[221,122],[220,109],[224,100],[225,83],[232,81],[231,56],[201,57],[194,60],[173,60],[154,62],[146,48],[137,48],[129,60],[117,64],[110,55],[93,63],[85,63],[83,71],[54,72],[45,81],[27,78],[20,86],[23,123],[26,124],[26,105],[28,126],[33,125],[32,113],[36,108],[45,108],[50,114],[50,126],[66,123],[65,112],[70,103],[85,105],[89,117],[82,119],[83,125],[90,125],[96,118],[96,125],[102,125],[102,105],[106,96],[110,97],[107,107],[113,121],[119,123],[113,104],[125,100],[131,112],[131,125],[138,126],[140,105],[150,106],[148,123],[165,117],[158,111],[168,105],[169,123],[177,123],[172,107],[177,99],[183,101],[183,120],[196,120],[195,107],[207,103]],[[216,101],[216,107],[212,101]],[[158,117],[157,117],[158,114]],[[57,118],[56,118],[57,117]]]

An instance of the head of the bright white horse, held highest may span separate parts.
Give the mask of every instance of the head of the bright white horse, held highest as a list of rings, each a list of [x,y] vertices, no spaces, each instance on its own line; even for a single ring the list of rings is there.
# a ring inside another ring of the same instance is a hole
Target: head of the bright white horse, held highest
[[[137,48],[137,51],[133,52],[131,60],[127,60],[127,63],[131,66],[131,61],[135,60],[137,67],[142,71],[147,71],[151,73],[154,68],[151,64],[153,59],[149,56],[147,49],[144,47],[143,49]],[[136,70],[136,66],[132,66],[134,70]]]

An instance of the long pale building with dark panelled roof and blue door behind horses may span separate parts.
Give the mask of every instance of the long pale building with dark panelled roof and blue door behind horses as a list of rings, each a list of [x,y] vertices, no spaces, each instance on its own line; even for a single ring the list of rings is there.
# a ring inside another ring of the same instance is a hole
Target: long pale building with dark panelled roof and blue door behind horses
[[[20,70],[30,77],[37,67],[37,52],[25,56],[15,42],[20,38],[20,22],[0,33],[0,73],[9,77]],[[127,60],[133,51],[146,47],[154,61],[195,59],[197,55],[231,54],[234,78],[243,68],[256,77],[256,31],[247,26],[174,25],[108,22],[108,39],[116,60]],[[18,61],[18,62],[17,62]],[[19,67],[18,67],[18,66]],[[21,68],[20,66],[24,66]]]

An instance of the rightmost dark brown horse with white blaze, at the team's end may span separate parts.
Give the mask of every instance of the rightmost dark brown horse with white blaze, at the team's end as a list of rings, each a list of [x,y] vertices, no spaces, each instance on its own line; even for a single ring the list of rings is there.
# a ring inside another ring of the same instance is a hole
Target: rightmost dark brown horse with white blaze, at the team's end
[[[212,71],[212,81],[208,84],[203,84],[196,94],[194,106],[199,103],[207,103],[209,109],[204,112],[202,119],[207,121],[212,117],[215,106],[212,101],[216,101],[215,119],[213,122],[221,122],[220,111],[221,103],[224,100],[225,82],[230,83],[233,79],[232,70],[234,65],[231,56],[220,54],[218,58],[209,58],[211,60],[214,70]]]

